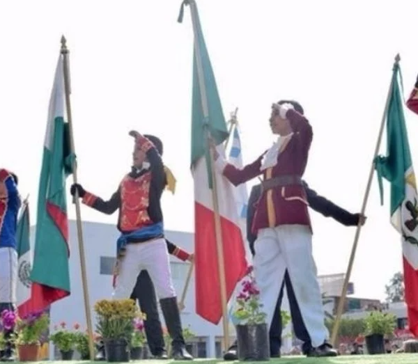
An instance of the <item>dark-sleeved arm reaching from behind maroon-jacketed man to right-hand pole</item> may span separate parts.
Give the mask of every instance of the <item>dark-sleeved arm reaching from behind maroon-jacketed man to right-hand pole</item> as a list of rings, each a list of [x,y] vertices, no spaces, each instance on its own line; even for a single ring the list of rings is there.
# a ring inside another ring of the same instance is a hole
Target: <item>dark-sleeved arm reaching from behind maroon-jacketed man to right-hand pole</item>
[[[346,209],[335,205],[332,201],[327,200],[323,196],[319,196],[316,191],[305,186],[307,191],[307,198],[309,207],[314,209],[316,212],[323,214],[323,216],[332,217],[332,219],[342,223],[346,226],[358,225],[361,218],[360,214],[351,214]]]

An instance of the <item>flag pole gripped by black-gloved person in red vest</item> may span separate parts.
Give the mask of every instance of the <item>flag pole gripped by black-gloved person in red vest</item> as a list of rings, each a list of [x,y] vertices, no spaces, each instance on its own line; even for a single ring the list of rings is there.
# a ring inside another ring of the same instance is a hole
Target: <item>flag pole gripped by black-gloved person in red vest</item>
[[[63,74],[64,74],[64,87],[65,87],[65,106],[67,111],[68,118],[68,127],[70,129],[70,148],[71,152],[75,154],[75,145],[74,145],[74,134],[72,131],[72,115],[71,115],[71,101],[70,101],[70,72],[68,68],[68,48],[67,40],[64,36],[61,38],[61,54],[63,55]],[[72,178],[74,183],[77,183],[77,161],[73,159],[72,162]],[[87,274],[86,274],[86,258],[84,255],[84,242],[83,242],[83,231],[82,231],[82,214],[80,209],[80,202],[78,191],[75,195],[75,214],[77,216],[77,236],[79,242],[79,254],[80,254],[80,265],[82,269],[82,284],[83,284],[83,293],[84,293],[84,310],[86,311],[86,322],[87,322],[87,332],[88,332],[88,348],[90,351],[90,360],[94,361],[94,342],[93,342],[93,326],[91,324],[91,312],[90,312],[90,302],[88,299],[88,287],[87,287]]]

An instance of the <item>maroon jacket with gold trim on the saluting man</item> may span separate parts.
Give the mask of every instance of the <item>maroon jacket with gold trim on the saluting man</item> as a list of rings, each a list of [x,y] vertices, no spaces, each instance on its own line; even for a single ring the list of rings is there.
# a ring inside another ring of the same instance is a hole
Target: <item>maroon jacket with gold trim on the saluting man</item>
[[[304,116],[293,109],[287,111],[286,118],[291,123],[293,136],[280,149],[277,164],[272,168],[260,171],[265,153],[242,169],[235,168],[232,164],[226,164],[222,173],[232,184],[237,186],[261,174],[263,174],[264,180],[284,175],[302,177],[307,166],[313,136],[312,127]],[[303,185],[291,184],[267,189],[263,191],[256,204],[252,225],[254,233],[261,228],[274,228],[286,224],[308,225],[311,228],[307,195]]]

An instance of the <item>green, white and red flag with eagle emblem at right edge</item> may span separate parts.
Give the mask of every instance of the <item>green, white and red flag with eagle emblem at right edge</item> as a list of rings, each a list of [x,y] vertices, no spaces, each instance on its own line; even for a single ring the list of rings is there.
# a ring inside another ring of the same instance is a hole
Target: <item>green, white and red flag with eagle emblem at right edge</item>
[[[418,195],[398,84],[399,73],[399,65],[395,63],[387,108],[387,155],[377,157],[376,171],[381,198],[382,177],[390,182],[390,221],[401,235],[409,326],[411,333],[418,336]]]

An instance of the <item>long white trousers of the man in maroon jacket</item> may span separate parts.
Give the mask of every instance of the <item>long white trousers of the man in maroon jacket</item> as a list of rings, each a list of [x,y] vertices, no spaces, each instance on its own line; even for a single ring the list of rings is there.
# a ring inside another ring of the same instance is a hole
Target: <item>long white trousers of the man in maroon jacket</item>
[[[309,227],[281,225],[258,230],[254,248],[254,274],[269,329],[287,269],[311,344],[322,345],[330,334],[324,322]]]

